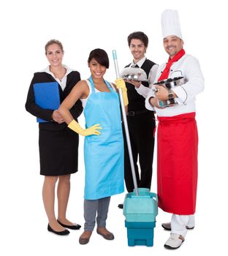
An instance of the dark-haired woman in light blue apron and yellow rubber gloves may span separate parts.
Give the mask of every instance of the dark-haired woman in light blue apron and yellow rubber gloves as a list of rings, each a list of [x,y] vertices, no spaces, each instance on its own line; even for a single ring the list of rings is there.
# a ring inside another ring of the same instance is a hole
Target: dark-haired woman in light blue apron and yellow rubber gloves
[[[118,94],[103,76],[109,67],[107,53],[102,49],[92,50],[88,57],[91,77],[81,80],[72,89],[69,97],[61,104],[59,113],[68,127],[86,136],[84,161],[86,181],[84,195],[84,232],[80,244],[87,244],[97,224],[96,232],[107,240],[113,240],[113,233],[106,229],[110,196],[124,191],[123,184],[123,134]],[[123,80],[116,80],[116,87],[123,89],[123,100],[127,105],[126,86]],[[80,127],[69,109],[77,99],[83,102],[86,129]]]

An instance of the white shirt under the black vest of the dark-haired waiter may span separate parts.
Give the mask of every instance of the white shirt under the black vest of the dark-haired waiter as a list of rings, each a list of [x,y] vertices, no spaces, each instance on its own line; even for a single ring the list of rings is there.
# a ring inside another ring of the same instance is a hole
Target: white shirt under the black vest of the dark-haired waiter
[[[142,67],[142,64],[145,62],[145,59],[146,57],[143,57],[142,59],[140,59],[140,61],[138,61],[137,63],[134,63],[132,61],[132,63],[130,64],[129,67],[132,67],[132,66],[135,66],[135,65],[138,65],[140,68]],[[148,93],[151,91],[151,86],[153,85],[154,83],[154,80],[156,78],[156,72],[157,72],[157,69],[159,68],[159,65],[153,65],[153,67],[151,67],[151,70],[149,72],[149,75],[148,75],[148,83],[149,83],[149,87],[146,87],[146,86],[143,86],[142,83],[140,84],[140,87],[137,88],[135,87],[136,91],[138,94],[142,95],[144,98],[146,98],[148,96]],[[133,86],[133,85],[132,85]]]

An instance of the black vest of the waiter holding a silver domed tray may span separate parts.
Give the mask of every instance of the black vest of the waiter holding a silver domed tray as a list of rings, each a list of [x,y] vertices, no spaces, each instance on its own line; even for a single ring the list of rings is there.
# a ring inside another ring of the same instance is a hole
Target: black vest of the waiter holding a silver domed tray
[[[127,65],[126,67],[129,67],[130,65],[131,64]],[[145,71],[147,77],[153,65],[155,65],[155,63],[153,61],[150,61],[149,59],[146,59],[142,64],[141,69]],[[142,85],[145,87],[149,87],[148,82],[142,82]],[[126,88],[127,88],[127,96],[129,99],[128,110],[129,111],[146,110],[145,98],[142,95],[137,93],[136,89],[131,83],[126,83]]]

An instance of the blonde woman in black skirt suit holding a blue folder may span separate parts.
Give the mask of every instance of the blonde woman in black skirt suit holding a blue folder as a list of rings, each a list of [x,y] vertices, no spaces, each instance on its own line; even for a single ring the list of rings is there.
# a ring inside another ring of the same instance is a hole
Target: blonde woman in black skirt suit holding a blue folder
[[[57,235],[67,235],[70,229],[79,229],[80,225],[66,219],[66,207],[69,199],[70,175],[77,172],[78,135],[67,127],[58,110],[40,108],[35,102],[34,83],[58,82],[60,101],[80,80],[80,73],[62,64],[64,49],[61,42],[52,39],[45,45],[45,55],[50,65],[41,72],[34,73],[26,100],[26,110],[47,122],[39,123],[39,160],[40,174],[45,176],[42,198],[48,218],[47,230]],[[77,120],[83,111],[77,101],[70,112]],[[54,211],[55,187],[58,181],[58,218]]]

